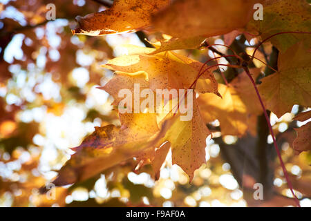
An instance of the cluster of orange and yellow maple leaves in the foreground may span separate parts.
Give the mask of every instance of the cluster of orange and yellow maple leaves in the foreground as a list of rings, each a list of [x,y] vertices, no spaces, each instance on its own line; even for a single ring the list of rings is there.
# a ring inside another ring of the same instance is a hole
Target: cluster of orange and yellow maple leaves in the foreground
[[[240,30],[258,32],[260,35],[257,34],[256,37],[265,39],[276,32],[310,30],[310,7],[306,1],[299,1],[298,6],[293,6],[294,12],[299,13],[299,21],[285,1],[265,1],[263,21],[254,22],[251,19],[254,3],[255,1],[175,1],[169,5],[169,1],[152,3],[114,1],[109,10],[78,17],[79,27],[73,33],[109,35],[152,25],[155,30],[173,36],[169,41],[161,41],[160,48],[157,50],[128,47],[129,55],[112,59],[104,65],[105,68],[116,71],[115,77],[103,89],[115,98],[114,104],[117,105],[120,102],[117,92],[122,88],[133,90],[135,83],[140,83],[143,87],[152,90],[190,88],[196,81],[203,64],[171,50],[191,46],[191,44],[195,46],[200,42],[198,39],[201,40],[203,37],[224,35]],[[161,10],[165,5],[169,6]],[[126,8],[127,10],[120,10]],[[276,8],[281,10],[279,15],[276,15],[278,14]],[[160,12],[155,13],[156,10]],[[221,14],[226,16],[221,17]],[[272,16],[276,18],[270,18]],[[171,25],[167,26],[168,23]],[[267,109],[278,117],[290,112],[294,104],[311,106],[311,54],[308,51],[311,38],[307,34],[303,37],[296,37],[299,34],[292,35],[300,41],[293,41],[290,44],[289,40],[281,35],[274,38],[276,44],[272,41],[272,44],[281,50],[278,72],[261,79],[262,84],[259,86]],[[256,79],[260,70],[254,71],[257,72],[257,75],[253,75]],[[142,76],[142,72],[147,76]],[[164,117],[158,119],[158,122],[161,122],[158,125],[154,114],[120,114],[122,125],[120,129],[116,130],[113,126],[97,128],[95,133],[75,148],[77,152],[61,169],[55,183],[70,184],[84,180],[93,173],[126,160],[125,156],[140,157],[140,152],[149,148],[160,151],[163,142],[167,141],[171,142],[173,164],[181,166],[192,180],[194,171],[205,162],[205,139],[210,134],[202,124],[201,115],[204,116],[206,123],[218,119],[223,135],[242,136],[247,131],[247,125],[252,124],[249,122],[252,115],[260,115],[262,112],[261,106],[254,99],[256,94],[252,90],[252,85],[247,82],[247,76],[243,73],[226,86],[217,85],[214,76],[207,72],[198,79],[196,93],[200,94],[199,98],[195,99],[198,104],[194,104],[194,118],[189,122],[181,122],[178,119],[167,120]],[[200,110],[199,106],[202,107]],[[304,142],[308,140],[308,137],[303,136],[306,134],[303,131],[299,132],[299,137],[302,136]],[[162,138],[164,140],[161,140]],[[294,144],[298,143],[299,140],[296,140]],[[164,154],[166,153],[165,151]],[[153,155],[144,155],[144,157],[153,162]],[[100,163],[97,164],[97,160]]]

